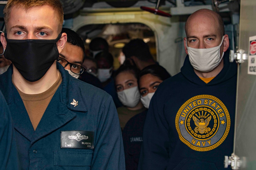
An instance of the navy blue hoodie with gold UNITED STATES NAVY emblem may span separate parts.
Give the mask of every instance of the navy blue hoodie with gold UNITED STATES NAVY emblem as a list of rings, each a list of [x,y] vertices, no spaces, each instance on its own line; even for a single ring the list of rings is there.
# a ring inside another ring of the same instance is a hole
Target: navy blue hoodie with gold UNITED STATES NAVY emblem
[[[181,72],[161,83],[151,99],[138,169],[224,169],[233,150],[237,64],[208,84],[188,56]]]

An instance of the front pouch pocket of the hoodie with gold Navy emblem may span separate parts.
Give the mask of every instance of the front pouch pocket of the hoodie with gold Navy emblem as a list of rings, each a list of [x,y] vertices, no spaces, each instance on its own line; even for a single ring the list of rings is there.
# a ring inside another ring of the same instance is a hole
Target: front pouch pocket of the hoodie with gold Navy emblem
[[[200,161],[196,159],[184,158],[173,170],[217,170],[216,166],[212,162]]]

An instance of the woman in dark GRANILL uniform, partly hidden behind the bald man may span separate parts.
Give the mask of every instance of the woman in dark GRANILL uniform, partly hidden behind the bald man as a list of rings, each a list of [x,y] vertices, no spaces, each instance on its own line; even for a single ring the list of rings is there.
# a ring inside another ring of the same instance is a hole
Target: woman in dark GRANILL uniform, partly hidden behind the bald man
[[[170,74],[162,66],[157,64],[147,66],[141,70],[138,78],[138,84],[140,87],[141,101],[144,107],[148,108],[150,100],[158,85],[169,77]],[[135,115],[124,127],[122,136],[126,170],[138,168],[146,114],[147,110]]]

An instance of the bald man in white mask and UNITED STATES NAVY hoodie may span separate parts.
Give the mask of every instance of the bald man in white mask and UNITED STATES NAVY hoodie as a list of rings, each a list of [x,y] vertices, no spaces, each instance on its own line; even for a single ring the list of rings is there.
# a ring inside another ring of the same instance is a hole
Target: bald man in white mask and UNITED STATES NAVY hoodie
[[[185,25],[181,72],[158,86],[138,169],[224,169],[233,150],[237,65],[221,17],[201,9]]]

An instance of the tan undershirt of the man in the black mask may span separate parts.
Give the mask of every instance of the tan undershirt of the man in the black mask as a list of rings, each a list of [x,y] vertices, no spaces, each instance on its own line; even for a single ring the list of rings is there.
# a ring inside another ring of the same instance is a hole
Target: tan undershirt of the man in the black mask
[[[28,116],[33,125],[34,130],[36,130],[37,125],[39,124],[48,104],[50,103],[52,96],[57,91],[61,82],[62,76],[59,73],[57,81],[48,90],[46,90],[43,93],[33,95],[23,93],[14,84],[14,86],[19,92],[20,97],[23,100],[23,103],[28,112]]]

